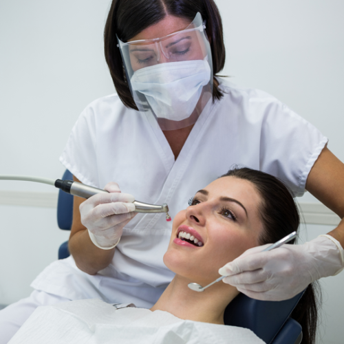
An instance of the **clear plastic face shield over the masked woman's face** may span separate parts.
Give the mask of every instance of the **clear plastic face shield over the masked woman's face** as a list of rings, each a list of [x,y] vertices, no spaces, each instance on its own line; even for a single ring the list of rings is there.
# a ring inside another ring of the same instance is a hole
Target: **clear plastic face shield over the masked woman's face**
[[[118,39],[133,100],[162,130],[193,125],[213,96],[211,47],[200,13],[185,29],[156,39]]]

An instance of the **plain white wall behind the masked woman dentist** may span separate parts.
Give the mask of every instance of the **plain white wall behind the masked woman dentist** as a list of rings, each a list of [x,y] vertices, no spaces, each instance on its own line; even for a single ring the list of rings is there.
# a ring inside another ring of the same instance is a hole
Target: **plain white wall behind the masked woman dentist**
[[[270,92],[330,138],[344,161],[344,2],[217,0],[224,21],[224,74]],[[0,2],[0,174],[60,178],[58,162],[78,114],[114,92],[103,58],[109,0]],[[0,191],[54,192],[0,182]],[[306,200],[313,200],[306,195]],[[302,201],[302,200],[301,200]],[[67,233],[54,208],[0,206],[0,303],[29,294]],[[310,239],[328,226],[308,226]],[[323,343],[342,343],[344,274],[325,280]]]

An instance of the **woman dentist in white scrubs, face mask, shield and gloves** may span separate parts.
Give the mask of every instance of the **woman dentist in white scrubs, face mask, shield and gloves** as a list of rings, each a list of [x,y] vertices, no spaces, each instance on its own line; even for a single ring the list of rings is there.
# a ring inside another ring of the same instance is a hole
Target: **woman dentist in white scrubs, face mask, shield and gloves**
[[[173,278],[162,261],[171,222],[136,215],[133,195],[169,204],[174,217],[197,190],[239,164],[275,175],[294,196],[308,190],[344,216],[344,164],[327,138],[269,94],[216,76],[225,52],[213,0],[112,1],[105,57],[117,94],[83,111],[61,162],[75,180],[109,195],[75,197],[72,256],[48,266],[28,299],[0,312],[7,338],[38,305],[87,298],[155,303]],[[342,246],[343,221],[305,246],[266,255],[249,250],[220,272],[250,297],[288,299],[338,273]]]

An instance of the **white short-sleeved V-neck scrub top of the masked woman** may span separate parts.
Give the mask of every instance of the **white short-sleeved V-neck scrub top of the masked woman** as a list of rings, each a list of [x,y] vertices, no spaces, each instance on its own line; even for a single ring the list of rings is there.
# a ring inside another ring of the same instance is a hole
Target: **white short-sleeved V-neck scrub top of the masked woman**
[[[223,81],[221,87],[224,97],[206,105],[177,160],[155,119],[114,94],[83,111],[61,162],[84,184],[103,189],[114,181],[138,201],[167,203],[172,218],[234,165],[275,175],[294,196],[303,195],[327,138],[266,92]],[[162,261],[171,227],[164,213],[138,214],[97,275],[81,272],[69,257],[48,266],[32,287],[69,299],[151,307],[173,278]]]

